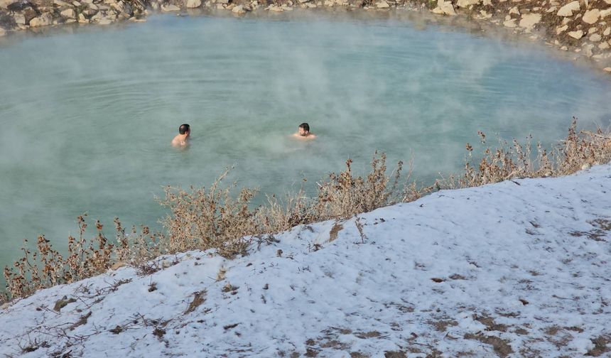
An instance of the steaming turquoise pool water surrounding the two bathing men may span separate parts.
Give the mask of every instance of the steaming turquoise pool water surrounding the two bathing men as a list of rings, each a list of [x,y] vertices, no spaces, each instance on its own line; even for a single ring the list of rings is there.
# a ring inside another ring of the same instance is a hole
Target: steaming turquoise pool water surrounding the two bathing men
[[[75,217],[155,224],[163,185],[308,192],[347,158],[463,165],[465,143],[608,126],[611,82],[516,43],[409,21],[157,16],[0,47],[0,266]],[[319,138],[289,136],[307,121]],[[171,148],[189,123],[184,151]],[[494,144],[494,143],[492,143]],[[261,198],[264,196],[261,195]],[[154,226],[154,225],[153,225]]]

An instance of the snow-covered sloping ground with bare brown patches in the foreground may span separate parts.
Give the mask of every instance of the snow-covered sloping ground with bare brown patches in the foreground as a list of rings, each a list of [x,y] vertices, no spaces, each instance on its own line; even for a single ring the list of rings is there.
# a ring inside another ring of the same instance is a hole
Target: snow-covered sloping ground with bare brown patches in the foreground
[[[611,166],[437,192],[38,292],[6,357],[611,356]]]

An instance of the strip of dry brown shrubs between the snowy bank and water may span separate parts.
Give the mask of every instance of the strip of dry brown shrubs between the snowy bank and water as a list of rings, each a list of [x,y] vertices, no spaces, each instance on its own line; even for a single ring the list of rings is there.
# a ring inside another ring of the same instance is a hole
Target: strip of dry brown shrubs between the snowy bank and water
[[[480,133],[482,143],[486,136]],[[168,207],[163,219],[164,232],[153,233],[148,227],[131,228],[131,232],[115,219],[115,237],[110,243],[95,223],[96,234],[85,239],[85,215],[78,217],[79,237],[68,237],[67,256],[53,249],[48,239],[38,237],[36,247],[23,248],[23,257],[4,268],[7,292],[0,293],[0,303],[10,298],[31,295],[40,288],[71,283],[95,276],[112,267],[129,264],[147,272],[147,262],[163,254],[193,249],[214,249],[225,257],[243,255],[256,237],[274,234],[298,224],[327,219],[346,219],[396,202],[410,202],[440,189],[466,188],[497,183],[512,178],[561,176],[598,163],[611,161],[610,131],[576,130],[573,120],[568,136],[550,151],[540,144],[533,151],[530,138],[526,143],[502,142],[498,148],[487,148],[479,163],[474,164],[472,146],[467,143],[467,156],[462,173],[440,178],[433,185],[421,186],[411,181],[409,173],[401,177],[403,163],[387,173],[386,155],[375,153],[371,171],[359,176],[352,172],[352,161],[340,173],[330,173],[318,183],[318,195],[305,197],[303,188],[283,199],[267,197],[265,205],[254,207],[257,191],[242,188],[234,197],[235,183],[222,181],[229,170],[210,188],[168,187],[165,197],[158,199]],[[255,236],[256,235],[256,236]],[[363,238],[364,239],[364,238]]]

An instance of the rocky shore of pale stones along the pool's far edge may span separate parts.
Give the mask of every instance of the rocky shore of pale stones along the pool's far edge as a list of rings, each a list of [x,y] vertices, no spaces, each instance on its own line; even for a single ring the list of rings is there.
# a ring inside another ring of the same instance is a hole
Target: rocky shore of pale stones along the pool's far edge
[[[0,0],[0,37],[64,23],[146,21],[155,12],[293,9],[419,11],[493,24],[588,58],[611,73],[611,0]]]

